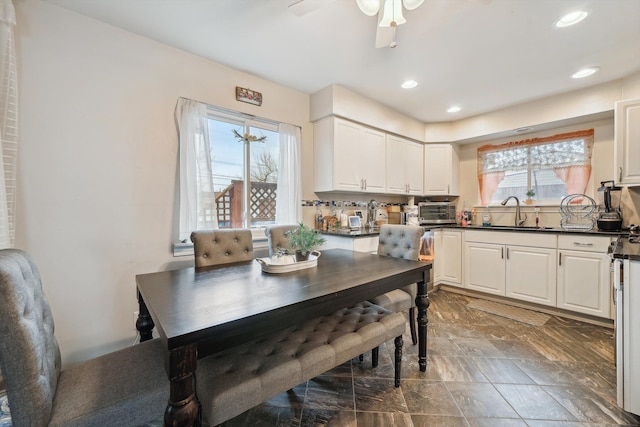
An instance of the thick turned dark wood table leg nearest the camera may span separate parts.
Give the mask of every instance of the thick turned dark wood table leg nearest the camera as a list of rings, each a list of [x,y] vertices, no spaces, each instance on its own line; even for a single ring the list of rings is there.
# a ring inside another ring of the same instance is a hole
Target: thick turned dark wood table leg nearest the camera
[[[202,411],[195,393],[194,373],[198,359],[196,344],[169,351],[171,391],[164,412],[166,427],[200,427]]]

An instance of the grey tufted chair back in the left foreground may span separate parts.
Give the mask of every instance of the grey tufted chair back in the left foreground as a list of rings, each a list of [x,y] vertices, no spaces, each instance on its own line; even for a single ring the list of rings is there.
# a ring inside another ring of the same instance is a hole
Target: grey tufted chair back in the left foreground
[[[61,370],[60,348],[40,273],[17,249],[0,251],[0,366],[16,426],[47,425]]]

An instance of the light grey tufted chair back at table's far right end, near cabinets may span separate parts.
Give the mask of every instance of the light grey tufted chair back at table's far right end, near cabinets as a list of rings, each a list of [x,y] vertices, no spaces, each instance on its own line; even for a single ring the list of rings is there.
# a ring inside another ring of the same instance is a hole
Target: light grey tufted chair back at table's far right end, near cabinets
[[[384,224],[380,227],[378,255],[418,261],[424,229],[416,225]]]

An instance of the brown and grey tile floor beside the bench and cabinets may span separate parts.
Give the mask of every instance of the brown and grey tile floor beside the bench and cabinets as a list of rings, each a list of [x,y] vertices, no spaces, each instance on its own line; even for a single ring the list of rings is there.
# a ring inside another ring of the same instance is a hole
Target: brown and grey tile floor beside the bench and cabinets
[[[431,294],[428,367],[405,335],[402,384],[393,343],[227,421],[235,426],[638,426],[615,403],[613,330],[551,316],[544,326]]]

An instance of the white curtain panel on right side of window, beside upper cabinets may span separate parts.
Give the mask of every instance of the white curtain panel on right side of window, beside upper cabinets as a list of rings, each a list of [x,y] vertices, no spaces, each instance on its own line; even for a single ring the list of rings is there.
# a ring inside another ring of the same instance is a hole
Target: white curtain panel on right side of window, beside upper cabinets
[[[296,224],[302,220],[300,128],[286,123],[278,126],[280,164],[276,224]]]

